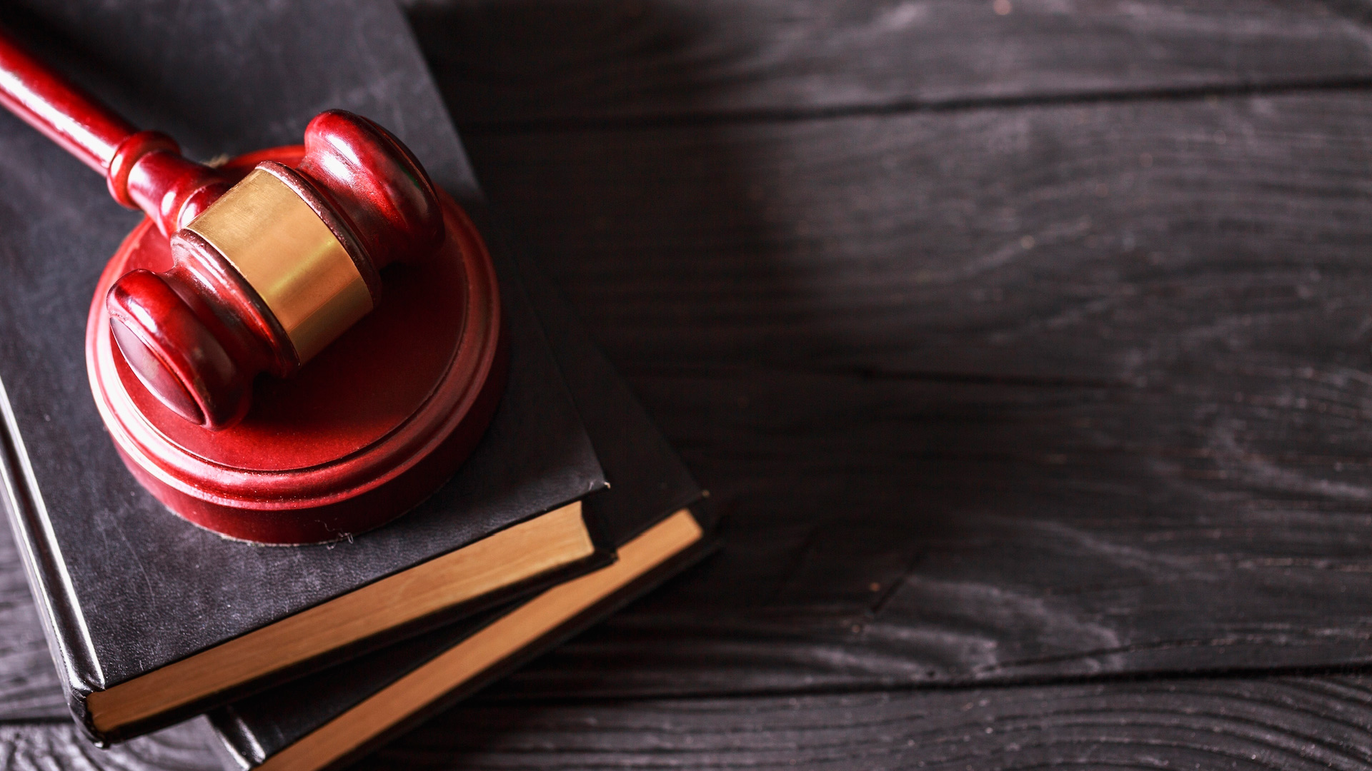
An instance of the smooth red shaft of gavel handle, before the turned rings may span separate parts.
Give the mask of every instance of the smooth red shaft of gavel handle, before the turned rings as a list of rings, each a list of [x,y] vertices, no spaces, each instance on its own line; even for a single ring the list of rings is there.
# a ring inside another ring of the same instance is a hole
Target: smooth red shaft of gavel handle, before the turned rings
[[[100,176],[139,129],[0,30],[0,104]]]

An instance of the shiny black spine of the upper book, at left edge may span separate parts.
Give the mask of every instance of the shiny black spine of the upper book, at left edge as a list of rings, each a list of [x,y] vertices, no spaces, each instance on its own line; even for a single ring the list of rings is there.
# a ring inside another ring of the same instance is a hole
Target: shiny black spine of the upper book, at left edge
[[[43,634],[62,678],[71,715],[96,744],[85,697],[100,689],[104,676],[91,645],[91,632],[71,591],[71,578],[58,549],[33,466],[19,436],[18,421],[0,381],[0,501],[4,502],[29,590],[43,619]]]

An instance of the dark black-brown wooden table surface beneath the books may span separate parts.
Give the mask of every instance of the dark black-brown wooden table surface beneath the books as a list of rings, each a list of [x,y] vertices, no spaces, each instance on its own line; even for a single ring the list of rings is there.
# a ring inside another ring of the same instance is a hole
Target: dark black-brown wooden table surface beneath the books
[[[364,767],[1372,767],[1372,4],[409,12],[729,521]],[[211,764],[0,561],[7,767]]]

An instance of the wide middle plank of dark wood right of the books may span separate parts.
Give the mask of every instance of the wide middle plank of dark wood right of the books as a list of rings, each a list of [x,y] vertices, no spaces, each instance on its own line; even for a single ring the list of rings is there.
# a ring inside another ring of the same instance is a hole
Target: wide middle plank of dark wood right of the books
[[[733,514],[516,682],[1368,661],[1368,125],[1323,93],[471,141]]]

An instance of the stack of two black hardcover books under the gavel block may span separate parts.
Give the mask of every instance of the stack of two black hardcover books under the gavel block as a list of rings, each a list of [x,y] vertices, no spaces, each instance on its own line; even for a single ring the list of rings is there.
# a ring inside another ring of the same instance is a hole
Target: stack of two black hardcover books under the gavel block
[[[387,0],[67,0],[0,23],[206,158],[298,143],[331,107],[391,128],[482,226],[510,329],[486,436],[417,509],[318,546],[198,530],[129,475],[86,383],[91,291],[137,217],[0,114],[3,505],[92,741],[207,715],[229,768],[339,767],[705,553],[705,493],[536,266],[504,248]]]

